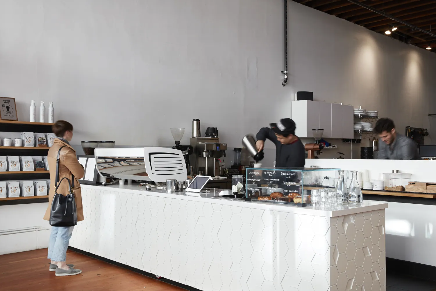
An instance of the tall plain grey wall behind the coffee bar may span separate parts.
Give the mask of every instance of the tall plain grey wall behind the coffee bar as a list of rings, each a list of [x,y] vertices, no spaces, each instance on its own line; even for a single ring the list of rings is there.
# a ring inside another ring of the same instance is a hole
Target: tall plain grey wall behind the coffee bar
[[[170,146],[170,127],[187,143],[199,118],[238,147],[290,116],[299,90],[436,130],[434,53],[293,1],[284,88],[282,0],[3,0],[0,39],[0,96],[20,120],[53,101],[73,144]]]

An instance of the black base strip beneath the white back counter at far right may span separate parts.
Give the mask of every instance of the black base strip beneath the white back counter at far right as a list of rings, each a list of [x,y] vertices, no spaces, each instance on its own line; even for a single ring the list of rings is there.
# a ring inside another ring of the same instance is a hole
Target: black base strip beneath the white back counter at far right
[[[389,270],[390,274],[436,281],[436,267],[434,266],[386,258],[386,270]]]

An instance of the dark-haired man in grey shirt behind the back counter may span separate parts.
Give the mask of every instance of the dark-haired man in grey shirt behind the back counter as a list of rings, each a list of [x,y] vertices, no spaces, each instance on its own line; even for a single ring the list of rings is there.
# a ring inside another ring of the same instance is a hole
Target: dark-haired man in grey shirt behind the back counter
[[[416,143],[396,132],[394,121],[381,118],[375,123],[374,132],[383,142],[379,143],[380,160],[421,160]]]

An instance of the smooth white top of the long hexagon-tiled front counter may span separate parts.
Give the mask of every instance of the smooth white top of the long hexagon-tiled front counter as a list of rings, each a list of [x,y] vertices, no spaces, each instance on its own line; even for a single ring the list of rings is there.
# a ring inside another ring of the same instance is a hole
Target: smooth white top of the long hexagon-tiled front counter
[[[208,202],[212,204],[221,204],[221,205],[229,205],[229,206],[239,206],[239,207],[247,207],[251,209],[262,209],[262,210],[272,210],[272,211],[280,211],[280,212],[288,212],[288,213],[296,213],[296,214],[307,214],[314,216],[324,216],[324,217],[336,217],[343,216],[348,214],[367,212],[379,209],[388,208],[388,203],[386,202],[378,202],[371,200],[364,200],[361,205],[337,205],[337,206],[329,206],[323,209],[319,207],[315,208],[314,206],[301,207],[296,205],[286,205],[286,204],[273,204],[271,202],[257,202],[257,201],[244,201],[244,200],[228,200],[228,199],[215,199],[210,198],[214,195],[219,195],[219,192],[223,189],[210,189],[208,193],[195,193],[188,192],[188,195],[185,191],[183,192],[173,192],[167,193],[165,190],[153,189],[147,191],[145,187],[139,187],[138,185],[107,185],[107,186],[95,186],[95,185],[81,185],[82,188],[90,188],[95,190],[103,190],[103,191],[115,191],[115,192],[124,192],[124,193],[132,193],[137,195],[148,195],[148,196],[158,196],[170,199],[182,199],[189,200],[194,202]]]

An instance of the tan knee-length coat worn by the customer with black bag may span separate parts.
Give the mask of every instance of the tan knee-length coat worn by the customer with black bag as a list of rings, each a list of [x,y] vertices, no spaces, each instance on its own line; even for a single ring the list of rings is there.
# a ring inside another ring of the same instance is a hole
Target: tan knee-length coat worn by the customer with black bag
[[[58,138],[54,139],[53,146],[50,147],[47,154],[48,168],[50,169],[50,191],[48,192],[48,207],[45,211],[44,219],[50,220],[50,208],[51,201],[54,197],[54,181],[56,178],[56,158],[58,157],[58,151],[62,146],[66,147],[61,149],[61,155],[59,156],[59,181],[64,177],[67,177],[68,180],[71,181],[71,174],[74,175],[74,198],[77,206],[77,221],[82,221],[84,219],[82,195],[80,184],[77,179],[83,177],[83,167],[77,160],[76,151],[70,145],[65,144]],[[68,182],[64,179],[58,188],[58,193],[67,195],[68,192]]]

